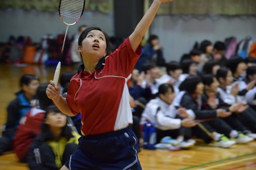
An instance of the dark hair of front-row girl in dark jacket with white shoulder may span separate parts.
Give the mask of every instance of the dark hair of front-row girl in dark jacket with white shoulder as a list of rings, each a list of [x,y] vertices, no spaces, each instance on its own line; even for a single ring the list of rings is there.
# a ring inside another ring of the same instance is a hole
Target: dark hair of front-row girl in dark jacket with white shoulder
[[[197,84],[201,83],[202,80],[200,76],[198,75],[191,75],[188,76],[181,84],[179,87],[180,91],[186,91],[189,94],[195,93],[196,86]]]

